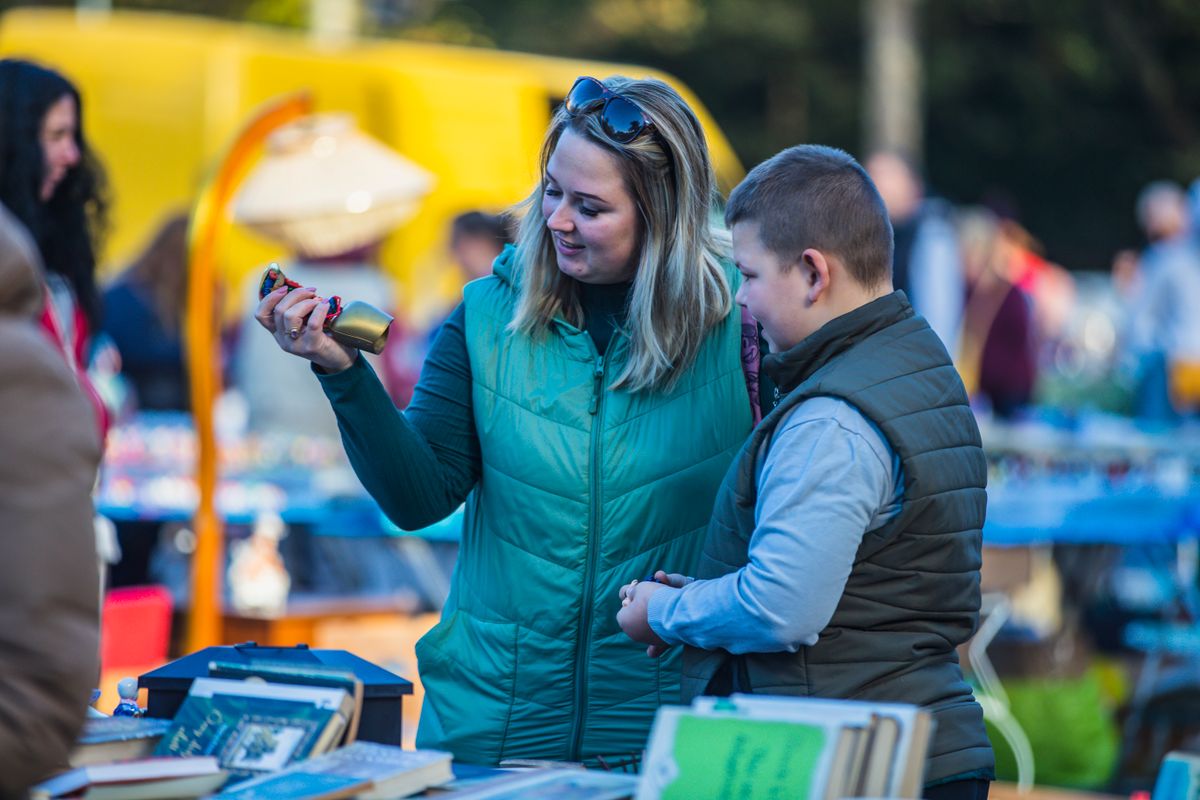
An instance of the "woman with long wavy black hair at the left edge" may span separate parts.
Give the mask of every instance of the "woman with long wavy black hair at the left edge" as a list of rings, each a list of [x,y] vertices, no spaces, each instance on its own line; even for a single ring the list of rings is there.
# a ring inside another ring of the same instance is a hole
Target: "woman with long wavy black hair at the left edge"
[[[108,206],[82,116],[79,92],[66,78],[0,60],[0,201],[37,243],[47,283],[42,327],[91,396],[103,433],[108,415],[84,371],[100,325],[96,252]]]

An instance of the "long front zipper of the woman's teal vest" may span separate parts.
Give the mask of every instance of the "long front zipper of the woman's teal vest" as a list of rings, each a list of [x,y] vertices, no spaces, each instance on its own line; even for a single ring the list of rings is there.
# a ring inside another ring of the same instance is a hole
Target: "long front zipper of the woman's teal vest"
[[[604,522],[600,495],[600,439],[604,434],[604,356],[598,355],[593,377],[592,449],[588,452],[588,554],[583,564],[583,606],[580,614],[580,638],[575,651],[575,722],[571,727],[570,760],[580,760],[583,730],[587,728],[588,660],[592,654],[592,595],[595,594],[596,551],[600,547],[600,525]]]

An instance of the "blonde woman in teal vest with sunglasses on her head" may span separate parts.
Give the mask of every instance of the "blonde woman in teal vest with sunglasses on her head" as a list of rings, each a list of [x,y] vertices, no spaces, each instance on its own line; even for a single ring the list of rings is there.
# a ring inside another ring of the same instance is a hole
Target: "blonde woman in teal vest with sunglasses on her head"
[[[715,197],[679,95],[580,78],[516,247],[466,287],[404,414],[320,332],[313,290],[259,305],[280,347],[316,365],[352,464],[397,524],[467,499],[450,597],[418,644],[420,746],[611,764],[678,700],[678,662],[623,640],[614,599],[668,554],[694,563],[750,428]]]

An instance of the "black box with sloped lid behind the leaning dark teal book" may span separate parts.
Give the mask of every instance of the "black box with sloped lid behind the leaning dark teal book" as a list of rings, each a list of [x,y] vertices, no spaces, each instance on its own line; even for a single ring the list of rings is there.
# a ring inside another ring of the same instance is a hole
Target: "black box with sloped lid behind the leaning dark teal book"
[[[360,658],[346,650],[310,650],[306,644],[294,648],[260,648],[253,642],[233,646],[205,648],[148,672],[138,678],[138,687],[149,693],[146,716],[169,720],[175,716],[193,678],[209,674],[209,663],[223,661],[287,662],[296,667],[311,664],[352,672],[362,681],[362,717],[359,739],[400,746],[401,703],[413,693],[413,684],[400,675]]]

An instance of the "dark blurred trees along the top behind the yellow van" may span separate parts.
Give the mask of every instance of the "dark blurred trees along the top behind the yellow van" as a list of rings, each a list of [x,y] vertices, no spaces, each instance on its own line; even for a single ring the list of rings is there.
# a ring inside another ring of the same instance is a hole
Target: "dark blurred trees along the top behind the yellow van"
[[[913,6],[932,190],[1016,216],[1070,269],[1140,242],[1147,181],[1200,175],[1194,0],[60,0],[652,65],[748,166],[799,142],[865,156],[868,14]],[[20,5],[0,0],[0,8]],[[342,7],[353,6],[350,14]],[[322,14],[324,14],[322,17]],[[322,22],[324,20],[324,22]],[[877,107],[877,102],[875,106]],[[874,119],[874,118],[870,118]],[[874,130],[874,127],[872,127]]]

